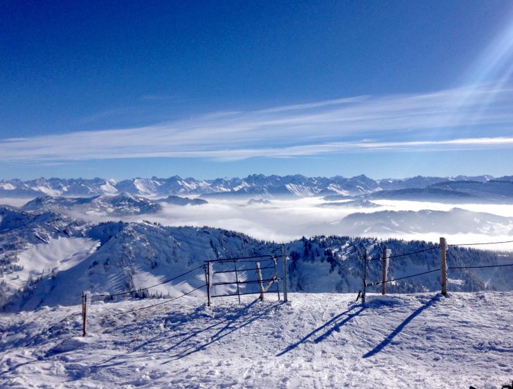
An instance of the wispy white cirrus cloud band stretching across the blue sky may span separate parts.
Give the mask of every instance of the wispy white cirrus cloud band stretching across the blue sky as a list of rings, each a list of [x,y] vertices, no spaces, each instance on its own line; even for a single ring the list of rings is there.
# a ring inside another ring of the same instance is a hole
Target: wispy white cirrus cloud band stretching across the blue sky
[[[472,99],[462,99],[471,90]],[[486,111],[481,103],[494,103]],[[455,112],[453,101],[462,101]],[[145,157],[236,160],[368,150],[504,148],[513,137],[513,89],[468,87],[426,94],[354,96],[138,128],[0,141],[0,160],[78,161]],[[478,114],[476,114],[478,112]],[[372,139],[364,140],[364,139]]]

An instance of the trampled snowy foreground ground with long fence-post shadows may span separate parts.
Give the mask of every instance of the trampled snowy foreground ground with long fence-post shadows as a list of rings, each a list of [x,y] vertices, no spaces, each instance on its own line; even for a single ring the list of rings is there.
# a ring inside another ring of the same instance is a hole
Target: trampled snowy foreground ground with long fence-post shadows
[[[513,293],[96,303],[0,318],[1,388],[501,388]],[[64,319],[66,318],[66,319]],[[64,320],[63,320],[64,319]],[[55,324],[57,323],[57,324]]]

